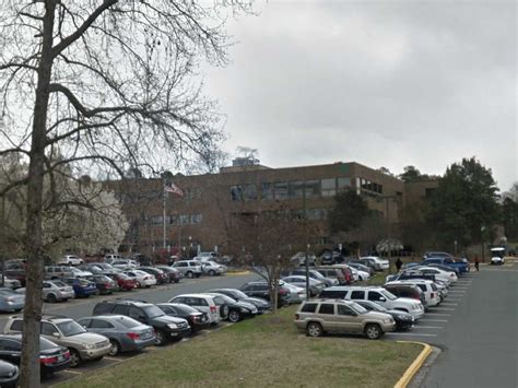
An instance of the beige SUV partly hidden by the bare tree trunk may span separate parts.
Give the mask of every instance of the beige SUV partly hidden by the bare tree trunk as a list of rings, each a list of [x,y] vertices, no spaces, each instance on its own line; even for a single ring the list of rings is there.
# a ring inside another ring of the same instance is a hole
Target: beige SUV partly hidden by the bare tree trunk
[[[23,317],[11,316],[3,328],[5,334],[21,333]],[[90,360],[101,360],[111,349],[109,340],[99,334],[90,333],[75,320],[62,316],[44,315],[40,334],[70,351],[70,366]]]

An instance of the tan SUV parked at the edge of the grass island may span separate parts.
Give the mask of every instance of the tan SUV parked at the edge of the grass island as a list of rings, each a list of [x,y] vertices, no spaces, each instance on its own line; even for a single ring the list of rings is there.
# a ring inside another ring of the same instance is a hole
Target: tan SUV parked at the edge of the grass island
[[[325,332],[364,333],[377,340],[393,331],[396,322],[385,313],[368,311],[352,301],[307,301],[295,314],[295,326],[309,337]]]

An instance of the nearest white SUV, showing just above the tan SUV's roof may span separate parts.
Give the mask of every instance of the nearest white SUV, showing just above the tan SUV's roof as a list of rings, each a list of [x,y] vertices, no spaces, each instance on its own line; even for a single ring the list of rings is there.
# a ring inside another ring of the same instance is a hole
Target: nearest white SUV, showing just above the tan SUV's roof
[[[415,320],[424,315],[424,306],[419,301],[408,297],[397,297],[384,287],[362,286],[333,286],[323,290],[320,298],[341,298],[351,301],[372,301],[378,305],[392,310],[401,310],[411,314]]]

